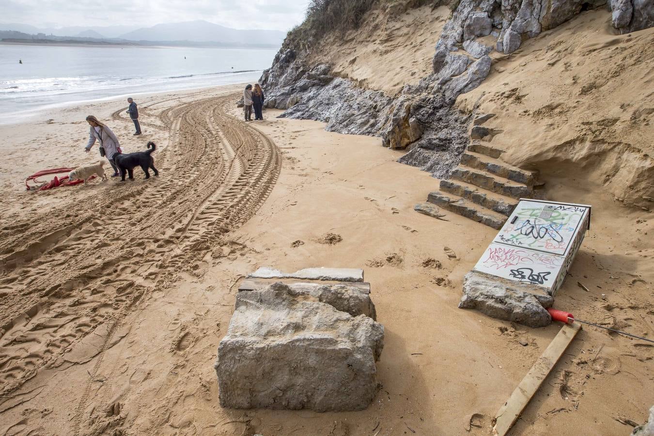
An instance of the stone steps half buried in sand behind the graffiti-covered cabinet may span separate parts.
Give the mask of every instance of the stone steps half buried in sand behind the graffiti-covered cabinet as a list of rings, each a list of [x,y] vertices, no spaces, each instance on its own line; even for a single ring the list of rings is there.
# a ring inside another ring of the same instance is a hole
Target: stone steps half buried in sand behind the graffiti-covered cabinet
[[[449,180],[441,180],[440,190],[431,192],[427,202],[500,229],[513,212],[519,198],[536,198],[538,171],[529,171],[502,161],[502,150],[471,143]],[[419,210],[419,208],[416,208]]]

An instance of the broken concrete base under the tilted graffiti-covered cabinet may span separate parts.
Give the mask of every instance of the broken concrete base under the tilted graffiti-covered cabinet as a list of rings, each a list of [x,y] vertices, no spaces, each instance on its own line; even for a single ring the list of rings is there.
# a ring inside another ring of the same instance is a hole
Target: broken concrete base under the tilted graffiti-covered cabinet
[[[554,299],[539,286],[470,271],[463,279],[458,307],[529,327],[543,327],[552,322],[546,309],[553,303]]]

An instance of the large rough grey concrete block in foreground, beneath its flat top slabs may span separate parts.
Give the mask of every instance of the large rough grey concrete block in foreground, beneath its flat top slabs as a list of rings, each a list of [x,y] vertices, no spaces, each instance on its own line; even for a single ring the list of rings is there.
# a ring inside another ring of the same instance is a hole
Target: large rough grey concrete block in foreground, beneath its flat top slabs
[[[370,405],[384,327],[344,301],[367,294],[318,289],[277,282],[237,294],[214,365],[222,407],[323,412]]]

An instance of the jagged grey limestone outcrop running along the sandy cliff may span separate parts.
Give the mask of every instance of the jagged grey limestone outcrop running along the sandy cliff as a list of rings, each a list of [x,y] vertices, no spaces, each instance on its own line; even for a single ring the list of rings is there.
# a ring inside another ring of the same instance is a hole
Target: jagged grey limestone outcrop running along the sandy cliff
[[[593,8],[611,8],[613,25],[622,33],[651,27],[653,3],[461,0],[451,3],[455,8],[434,41],[433,72],[398,95],[361,88],[332,71],[331,65],[311,65],[311,50],[320,49],[319,44],[290,37],[260,83],[267,107],[286,109],[284,117],[322,121],[328,131],[379,136],[384,146],[407,150],[400,162],[445,178],[470,142],[470,116],[453,109],[453,104],[458,95],[475,89],[489,75],[492,50],[513,53],[526,39]],[[397,10],[404,9],[396,5],[387,12]]]

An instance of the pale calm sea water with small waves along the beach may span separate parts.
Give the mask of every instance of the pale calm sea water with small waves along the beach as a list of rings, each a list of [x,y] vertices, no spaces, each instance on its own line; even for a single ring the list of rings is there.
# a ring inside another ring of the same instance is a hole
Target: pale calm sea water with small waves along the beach
[[[0,44],[0,124],[148,92],[254,84],[277,50]],[[22,63],[19,61],[22,60]]]

